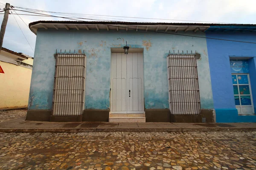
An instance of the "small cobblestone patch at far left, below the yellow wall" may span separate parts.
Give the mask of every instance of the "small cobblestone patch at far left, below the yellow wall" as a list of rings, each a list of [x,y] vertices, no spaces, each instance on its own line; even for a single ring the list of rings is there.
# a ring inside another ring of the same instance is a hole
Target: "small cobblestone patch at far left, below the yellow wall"
[[[26,109],[0,110],[0,123],[26,116]]]

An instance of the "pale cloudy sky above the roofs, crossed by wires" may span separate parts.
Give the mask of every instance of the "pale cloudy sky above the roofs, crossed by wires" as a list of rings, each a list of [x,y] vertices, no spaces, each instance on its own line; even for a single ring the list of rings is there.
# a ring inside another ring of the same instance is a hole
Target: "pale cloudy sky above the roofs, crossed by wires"
[[[0,0],[1,11],[5,3],[7,1]],[[201,21],[201,23],[256,23],[256,0],[8,0],[8,3],[12,6],[43,11],[167,19],[154,20],[91,15],[82,16],[96,20],[170,23],[188,22],[182,20],[192,20],[193,23],[195,21]],[[32,14],[22,11],[16,12],[17,14]],[[13,11],[13,13],[15,12]],[[44,14],[57,15],[52,13]],[[76,14],[74,17],[81,17],[81,15],[78,16]],[[0,21],[2,20],[3,12],[0,14]],[[11,14],[9,15],[6,27],[3,47],[33,57],[36,36],[29,30],[28,24],[38,20],[64,19]],[[31,47],[20,31],[17,23]]]

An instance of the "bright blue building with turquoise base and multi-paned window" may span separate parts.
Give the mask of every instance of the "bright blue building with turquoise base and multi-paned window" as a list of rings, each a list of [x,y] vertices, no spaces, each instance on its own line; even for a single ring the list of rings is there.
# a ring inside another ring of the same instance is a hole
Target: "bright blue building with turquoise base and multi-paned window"
[[[220,25],[206,31],[216,122],[256,122],[255,30]]]

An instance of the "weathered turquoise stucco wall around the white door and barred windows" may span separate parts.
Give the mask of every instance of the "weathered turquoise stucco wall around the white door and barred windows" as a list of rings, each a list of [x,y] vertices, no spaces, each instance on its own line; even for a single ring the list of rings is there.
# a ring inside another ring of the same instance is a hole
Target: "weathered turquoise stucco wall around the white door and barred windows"
[[[203,32],[186,34],[205,37]],[[145,108],[169,108],[166,59],[169,50],[192,50],[201,54],[201,59],[197,60],[201,108],[213,108],[207,44],[203,38],[134,30],[68,31],[49,28],[37,32],[29,109],[52,108],[56,49],[85,51],[87,73],[84,108],[108,109],[111,48],[122,48],[125,41],[131,48],[144,48]]]

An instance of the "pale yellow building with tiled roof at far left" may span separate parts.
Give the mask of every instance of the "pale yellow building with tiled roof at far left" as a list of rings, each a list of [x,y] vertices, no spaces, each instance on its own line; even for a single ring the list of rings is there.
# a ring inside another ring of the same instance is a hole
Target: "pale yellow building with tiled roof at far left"
[[[33,58],[2,48],[0,52],[0,109],[27,108]]]

